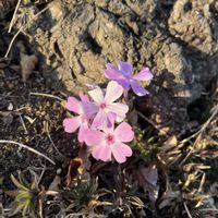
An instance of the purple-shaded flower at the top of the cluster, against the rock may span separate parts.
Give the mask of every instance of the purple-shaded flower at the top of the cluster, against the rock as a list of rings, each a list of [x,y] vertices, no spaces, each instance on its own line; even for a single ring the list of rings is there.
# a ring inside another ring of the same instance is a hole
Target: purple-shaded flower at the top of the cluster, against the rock
[[[107,78],[117,81],[120,85],[122,85],[125,95],[130,90],[130,87],[132,87],[133,92],[137,96],[149,94],[148,90],[137,84],[137,81],[149,81],[153,78],[153,74],[149,69],[144,68],[135,75],[132,75],[132,72],[133,65],[131,63],[119,61],[118,69],[110,63],[107,64],[105,75]]]

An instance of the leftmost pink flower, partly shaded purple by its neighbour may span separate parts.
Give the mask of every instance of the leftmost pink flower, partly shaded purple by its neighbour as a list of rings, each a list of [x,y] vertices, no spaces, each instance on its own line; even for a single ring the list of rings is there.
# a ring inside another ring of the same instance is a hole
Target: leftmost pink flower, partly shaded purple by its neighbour
[[[89,119],[96,113],[97,107],[90,102],[87,95],[80,95],[82,101],[74,97],[69,97],[65,108],[78,116],[65,118],[63,120],[64,131],[68,133],[75,132],[78,128],[78,142],[83,143],[85,140],[85,131],[89,126]]]

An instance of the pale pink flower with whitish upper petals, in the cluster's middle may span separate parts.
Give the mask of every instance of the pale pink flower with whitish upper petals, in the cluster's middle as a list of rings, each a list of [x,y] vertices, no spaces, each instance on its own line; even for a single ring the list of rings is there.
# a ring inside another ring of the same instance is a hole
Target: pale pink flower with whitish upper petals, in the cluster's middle
[[[111,112],[116,114],[117,122],[121,122],[125,118],[129,107],[124,104],[114,102],[123,94],[122,86],[116,81],[108,83],[105,96],[99,87],[89,90],[88,94],[98,107],[98,112],[93,120],[93,129],[102,130],[107,128],[109,124],[108,114]]]

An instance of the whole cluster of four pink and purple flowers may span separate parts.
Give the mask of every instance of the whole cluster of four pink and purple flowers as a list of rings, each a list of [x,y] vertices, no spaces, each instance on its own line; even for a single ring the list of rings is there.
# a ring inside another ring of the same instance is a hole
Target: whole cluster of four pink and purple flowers
[[[132,126],[124,122],[129,106],[119,102],[122,95],[128,97],[130,87],[138,95],[147,95],[148,92],[141,87],[136,81],[146,81],[153,77],[148,68],[138,74],[132,75],[131,63],[120,61],[118,69],[107,64],[105,75],[111,78],[106,90],[96,87],[87,95],[81,94],[80,100],[69,97],[65,108],[76,116],[65,118],[63,126],[65,132],[73,133],[78,130],[77,140],[90,147],[94,158],[109,161],[114,158],[122,164],[126,157],[132,156],[132,149],[125,143],[134,138]],[[116,123],[118,125],[116,126]]]

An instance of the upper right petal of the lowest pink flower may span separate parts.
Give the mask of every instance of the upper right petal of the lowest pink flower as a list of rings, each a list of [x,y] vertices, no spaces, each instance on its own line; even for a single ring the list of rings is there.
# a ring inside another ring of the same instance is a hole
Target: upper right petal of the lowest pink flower
[[[116,128],[114,136],[117,142],[128,143],[134,138],[134,132],[132,131],[132,126],[126,122],[122,122]]]

